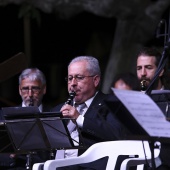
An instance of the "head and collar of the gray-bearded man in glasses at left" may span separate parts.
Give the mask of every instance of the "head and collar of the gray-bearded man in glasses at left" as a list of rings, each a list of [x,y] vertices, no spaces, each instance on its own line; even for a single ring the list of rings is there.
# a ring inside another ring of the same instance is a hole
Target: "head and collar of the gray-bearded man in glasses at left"
[[[38,106],[40,112],[46,111],[42,99],[46,94],[46,78],[37,68],[28,68],[19,76],[19,94],[22,107]],[[48,110],[47,110],[48,111]]]

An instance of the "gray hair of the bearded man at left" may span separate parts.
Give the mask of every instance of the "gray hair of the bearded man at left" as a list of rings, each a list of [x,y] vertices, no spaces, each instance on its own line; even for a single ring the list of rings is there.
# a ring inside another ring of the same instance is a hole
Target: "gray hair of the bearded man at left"
[[[46,85],[45,75],[38,68],[27,68],[23,70],[19,76],[19,84],[26,78],[29,78],[31,81],[40,80],[42,85]]]

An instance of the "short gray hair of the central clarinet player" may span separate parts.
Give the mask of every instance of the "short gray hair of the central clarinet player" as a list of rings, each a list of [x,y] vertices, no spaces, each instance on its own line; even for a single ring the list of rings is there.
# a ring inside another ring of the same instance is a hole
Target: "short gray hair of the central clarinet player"
[[[92,56],[78,56],[78,57],[75,57],[75,58],[73,58],[71,60],[68,67],[70,66],[70,64],[75,63],[75,62],[79,62],[79,61],[87,61],[87,63],[88,63],[87,70],[92,75],[101,76],[99,61],[96,58],[92,57]]]

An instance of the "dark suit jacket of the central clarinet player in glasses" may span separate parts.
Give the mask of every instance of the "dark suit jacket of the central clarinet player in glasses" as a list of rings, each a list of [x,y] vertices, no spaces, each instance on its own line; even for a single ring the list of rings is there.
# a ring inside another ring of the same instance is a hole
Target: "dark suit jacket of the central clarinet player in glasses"
[[[123,138],[122,127],[113,114],[107,109],[105,99],[109,95],[98,92],[85,113],[83,127],[80,128],[83,144],[86,149],[97,142],[120,140]],[[52,109],[60,111],[63,104]],[[79,150],[79,155],[84,150]]]

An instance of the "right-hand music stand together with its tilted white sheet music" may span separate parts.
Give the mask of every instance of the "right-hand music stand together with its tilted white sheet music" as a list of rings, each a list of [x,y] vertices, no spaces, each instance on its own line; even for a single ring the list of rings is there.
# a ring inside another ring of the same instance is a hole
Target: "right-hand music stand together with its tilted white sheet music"
[[[170,142],[170,124],[162,111],[146,94],[135,91],[112,89],[115,95],[105,102],[108,108],[130,132],[126,139],[147,140],[155,169],[154,143]]]

